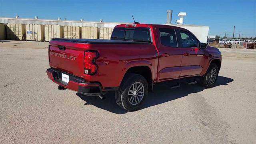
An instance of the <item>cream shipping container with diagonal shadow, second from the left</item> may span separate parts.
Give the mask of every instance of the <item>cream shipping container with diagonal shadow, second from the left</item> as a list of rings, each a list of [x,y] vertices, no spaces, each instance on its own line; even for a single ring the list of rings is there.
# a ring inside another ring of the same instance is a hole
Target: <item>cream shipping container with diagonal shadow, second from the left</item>
[[[6,24],[6,39],[7,40],[25,40],[26,30],[25,24]]]

